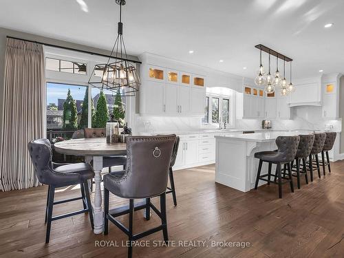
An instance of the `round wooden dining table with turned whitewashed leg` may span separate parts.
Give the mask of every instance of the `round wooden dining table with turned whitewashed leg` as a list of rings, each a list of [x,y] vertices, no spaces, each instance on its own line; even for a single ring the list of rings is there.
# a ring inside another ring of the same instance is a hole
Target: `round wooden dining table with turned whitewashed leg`
[[[103,157],[113,155],[127,155],[127,144],[122,142],[107,143],[106,138],[81,138],[56,142],[54,149],[58,153],[66,155],[85,156],[85,162],[91,164],[94,169],[94,182],[96,184],[94,193],[94,233],[103,233],[103,208],[100,175],[103,169]]]

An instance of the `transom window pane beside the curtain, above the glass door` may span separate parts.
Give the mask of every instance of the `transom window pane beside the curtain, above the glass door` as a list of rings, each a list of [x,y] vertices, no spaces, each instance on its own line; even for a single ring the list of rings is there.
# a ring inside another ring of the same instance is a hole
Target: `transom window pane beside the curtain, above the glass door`
[[[49,57],[45,58],[45,69],[57,72],[68,72],[69,74],[87,74],[87,65],[85,63],[77,63]]]

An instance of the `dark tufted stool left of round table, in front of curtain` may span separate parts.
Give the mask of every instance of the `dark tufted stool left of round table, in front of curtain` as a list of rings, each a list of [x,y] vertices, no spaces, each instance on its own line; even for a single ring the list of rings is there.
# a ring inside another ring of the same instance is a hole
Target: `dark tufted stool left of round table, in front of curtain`
[[[52,162],[52,147],[47,139],[29,142],[28,150],[39,182],[49,185],[47,206],[45,208],[45,222],[47,222],[45,243],[49,243],[52,221],[56,219],[63,219],[80,213],[89,213],[91,226],[94,228],[92,204],[87,186],[87,180],[94,178],[92,167],[85,163],[61,165]],[[56,188],[72,186],[74,184],[80,184],[81,197],[54,202]],[[52,208],[54,205],[76,200],[83,200],[83,210],[52,217]]]

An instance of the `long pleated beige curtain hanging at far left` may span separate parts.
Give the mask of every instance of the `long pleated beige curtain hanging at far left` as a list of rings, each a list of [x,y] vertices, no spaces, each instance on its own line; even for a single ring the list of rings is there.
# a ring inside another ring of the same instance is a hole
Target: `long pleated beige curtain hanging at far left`
[[[27,144],[45,137],[45,67],[41,44],[7,39],[1,130],[3,191],[38,186]]]

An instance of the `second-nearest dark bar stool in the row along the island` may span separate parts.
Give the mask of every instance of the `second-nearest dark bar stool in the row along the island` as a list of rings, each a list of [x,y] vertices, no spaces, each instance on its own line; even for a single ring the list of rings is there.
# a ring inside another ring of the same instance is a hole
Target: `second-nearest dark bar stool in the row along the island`
[[[308,176],[307,176],[307,158],[310,156],[310,152],[312,151],[313,143],[314,143],[314,134],[307,134],[307,135],[299,135],[300,142],[299,147],[297,147],[297,155],[295,156],[295,160],[292,161],[292,172],[296,172],[297,176],[297,188],[300,189],[300,173],[305,174],[305,182],[308,184]],[[303,162],[303,170],[300,171],[300,164],[301,160]],[[296,167],[294,170],[294,161],[296,162]],[[294,173],[292,173],[294,175]]]

